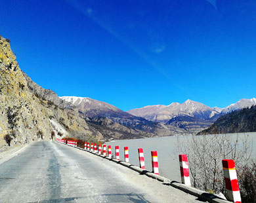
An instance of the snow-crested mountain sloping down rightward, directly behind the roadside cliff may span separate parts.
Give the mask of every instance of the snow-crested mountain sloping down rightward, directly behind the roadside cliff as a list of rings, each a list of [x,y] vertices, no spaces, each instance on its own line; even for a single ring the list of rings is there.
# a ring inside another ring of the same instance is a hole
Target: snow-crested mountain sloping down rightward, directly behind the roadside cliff
[[[142,117],[135,117],[106,102],[75,96],[63,96],[60,98],[77,107],[87,117],[88,122],[104,126],[104,128],[108,129],[108,134],[114,134],[113,130],[119,133],[123,132],[123,135],[119,135],[120,138],[127,138],[127,136],[144,138],[187,133],[186,130],[175,126],[165,126]]]

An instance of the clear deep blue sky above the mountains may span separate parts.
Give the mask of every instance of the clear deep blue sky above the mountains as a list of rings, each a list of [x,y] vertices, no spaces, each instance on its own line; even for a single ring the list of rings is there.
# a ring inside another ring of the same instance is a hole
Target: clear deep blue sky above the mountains
[[[256,97],[256,1],[0,1],[20,68],[120,109]]]

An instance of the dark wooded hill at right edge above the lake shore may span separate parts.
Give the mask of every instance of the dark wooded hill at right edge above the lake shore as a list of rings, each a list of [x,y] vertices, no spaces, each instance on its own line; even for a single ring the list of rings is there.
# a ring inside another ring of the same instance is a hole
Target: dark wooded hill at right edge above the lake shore
[[[216,120],[198,135],[224,134],[234,132],[256,132],[256,106],[246,107],[240,111],[232,111]]]

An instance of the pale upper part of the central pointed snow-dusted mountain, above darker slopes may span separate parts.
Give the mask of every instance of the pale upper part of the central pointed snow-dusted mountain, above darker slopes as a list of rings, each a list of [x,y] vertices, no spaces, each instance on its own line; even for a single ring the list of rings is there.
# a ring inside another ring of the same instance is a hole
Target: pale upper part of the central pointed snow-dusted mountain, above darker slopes
[[[219,115],[221,109],[218,107],[211,108],[200,102],[186,100],[184,103],[173,102],[170,105],[151,105],[139,109],[132,109],[127,112],[154,122],[167,122],[177,116],[211,119],[215,115]]]

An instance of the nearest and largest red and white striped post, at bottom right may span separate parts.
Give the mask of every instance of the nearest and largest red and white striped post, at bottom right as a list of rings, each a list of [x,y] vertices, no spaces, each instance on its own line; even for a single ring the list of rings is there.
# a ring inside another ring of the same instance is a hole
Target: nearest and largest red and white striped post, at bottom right
[[[223,172],[226,185],[226,198],[235,203],[241,203],[240,189],[234,160],[223,159]]]

